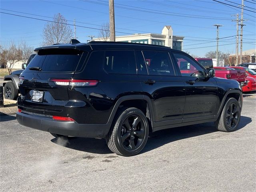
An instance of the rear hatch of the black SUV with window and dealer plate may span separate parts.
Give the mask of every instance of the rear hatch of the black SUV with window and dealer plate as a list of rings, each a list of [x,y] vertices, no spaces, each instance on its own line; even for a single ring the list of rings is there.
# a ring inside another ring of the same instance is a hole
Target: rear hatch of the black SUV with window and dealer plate
[[[72,48],[38,50],[20,74],[18,105],[30,112],[62,112],[69,100],[65,81],[82,68],[87,54]]]

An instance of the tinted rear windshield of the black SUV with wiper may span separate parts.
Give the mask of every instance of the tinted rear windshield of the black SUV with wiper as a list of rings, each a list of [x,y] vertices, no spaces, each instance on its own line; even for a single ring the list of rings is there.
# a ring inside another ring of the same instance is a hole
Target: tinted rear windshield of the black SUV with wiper
[[[74,49],[39,50],[28,68],[40,67],[42,72],[74,72],[82,54]]]

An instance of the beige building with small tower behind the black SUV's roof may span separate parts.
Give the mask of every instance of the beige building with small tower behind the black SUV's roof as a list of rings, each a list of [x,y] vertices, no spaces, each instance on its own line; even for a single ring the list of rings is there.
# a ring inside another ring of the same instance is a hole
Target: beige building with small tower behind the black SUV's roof
[[[162,34],[133,34],[126,36],[116,36],[117,42],[144,43],[153,45],[163,45],[173,49],[182,50],[183,36],[174,36],[171,26],[164,26]],[[103,41],[104,38],[95,38],[94,41]],[[108,38],[109,41],[109,38]]]

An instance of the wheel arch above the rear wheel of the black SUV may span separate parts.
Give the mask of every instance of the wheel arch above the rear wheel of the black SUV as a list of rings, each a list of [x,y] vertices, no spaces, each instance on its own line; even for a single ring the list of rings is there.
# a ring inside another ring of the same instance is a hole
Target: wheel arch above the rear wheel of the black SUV
[[[142,103],[144,102],[144,103]],[[116,112],[118,112],[118,109],[122,106],[126,107],[136,107],[145,114],[145,116],[150,120],[151,127],[154,122],[154,110],[152,101],[150,98],[146,95],[127,95],[122,96],[116,101],[116,104],[114,105],[114,108],[110,114],[110,117],[108,119],[108,122],[112,122],[114,120],[114,117],[116,115]]]

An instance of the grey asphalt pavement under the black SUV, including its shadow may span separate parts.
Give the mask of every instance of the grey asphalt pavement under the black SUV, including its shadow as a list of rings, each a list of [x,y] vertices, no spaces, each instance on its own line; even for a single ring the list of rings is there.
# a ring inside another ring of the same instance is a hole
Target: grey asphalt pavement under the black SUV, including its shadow
[[[255,192],[256,97],[245,96],[239,129],[213,123],[156,132],[132,157],[105,140],[56,140],[0,117],[0,191]]]

